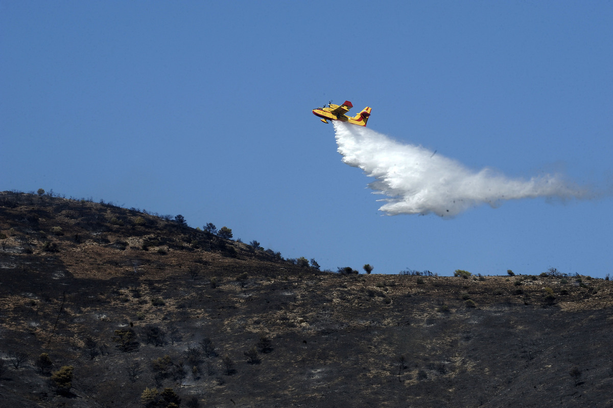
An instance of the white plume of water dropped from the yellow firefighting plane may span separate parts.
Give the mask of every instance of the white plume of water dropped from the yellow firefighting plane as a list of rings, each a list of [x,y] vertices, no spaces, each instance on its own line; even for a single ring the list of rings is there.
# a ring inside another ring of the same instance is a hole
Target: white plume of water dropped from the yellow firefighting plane
[[[475,172],[458,161],[424,147],[402,144],[371,129],[334,121],[343,162],[359,167],[375,181],[368,187],[387,198],[380,210],[387,215],[429,214],[453,217],[487,203],[522,198],[587,198],[587,188],[560,175],[530,180],[509,179],[485,168]]]

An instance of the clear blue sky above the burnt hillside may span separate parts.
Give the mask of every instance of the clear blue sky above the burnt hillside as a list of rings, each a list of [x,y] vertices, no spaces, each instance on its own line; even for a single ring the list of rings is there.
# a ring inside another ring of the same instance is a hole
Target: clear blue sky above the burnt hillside
[[[613,180],[613,2],[0,2],[0,190],[228,226],[322,268],[613,272],[613,199],[383,215],[332,125]]]

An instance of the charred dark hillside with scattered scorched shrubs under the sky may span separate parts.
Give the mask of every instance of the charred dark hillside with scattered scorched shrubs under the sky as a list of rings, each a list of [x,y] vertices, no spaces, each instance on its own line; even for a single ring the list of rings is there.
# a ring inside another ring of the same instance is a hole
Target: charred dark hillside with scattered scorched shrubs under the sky
[[[6,191],[0,245],[6,406],[143,407],[153,388],[172,391],[149,406],[613,406],[608,280],[321,272],[170,217]]]

